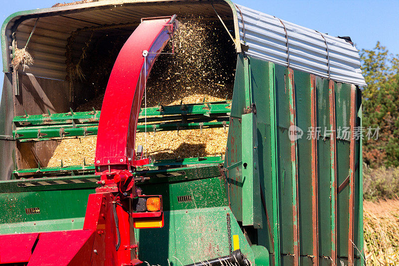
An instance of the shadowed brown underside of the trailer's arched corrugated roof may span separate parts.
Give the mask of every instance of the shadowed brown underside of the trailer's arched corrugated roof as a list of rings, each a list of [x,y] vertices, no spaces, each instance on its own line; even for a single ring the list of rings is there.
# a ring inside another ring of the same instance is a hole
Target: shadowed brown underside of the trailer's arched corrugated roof
[[[2,37],[6,40],[2,43],[3,61],[5,64],[10,63],[8,46],[11,44],[11,27],[17,25],[15,40],[17,47],[22,48],[26,44],[36,17],[39,16],[36,29],[27,47],[34,59],[34,64],[25,70],[35,76],[64,80],[67,75],[65,65],[67,39],[73,31],[85,27],[120,23],[137,23],[138,25],[143,17],[166,16],[175,13],[217,19],[210,3],[213,3],[219,15],[229,22],[231,29],[234,29],[231,22],[234,21],[235,13],[232,7],[223,0],[104,0],[31,10],[32,14],[29,14],[29,11],[23,11],[21,13],[24,15],[16,15],[8,22],[7,29],[3,25]],[[19,25],[18,19],[22,20]],[[134,28],[135,26],[130,27],[130,31],[133,32]],[[112,32],[112,29],[108,32]],[[236,33],[238,35],[238,30]],[[76,37],[75,44],[78,46],[79,42],[83,44],[86,40],[87,34],[81,33]],[[73,54],[79,53],[73,52]],[[4,70],[8,70],[7,65],[4,66]]]

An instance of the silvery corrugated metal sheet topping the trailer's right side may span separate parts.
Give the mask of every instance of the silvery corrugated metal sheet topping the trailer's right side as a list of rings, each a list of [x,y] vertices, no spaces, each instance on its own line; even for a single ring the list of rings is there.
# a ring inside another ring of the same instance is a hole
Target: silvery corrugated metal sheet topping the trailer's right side
[[[242,5],[236,7],[240,37],[249,46],[249,56],[340,82],[366,85],[358,50],[344,39]]]

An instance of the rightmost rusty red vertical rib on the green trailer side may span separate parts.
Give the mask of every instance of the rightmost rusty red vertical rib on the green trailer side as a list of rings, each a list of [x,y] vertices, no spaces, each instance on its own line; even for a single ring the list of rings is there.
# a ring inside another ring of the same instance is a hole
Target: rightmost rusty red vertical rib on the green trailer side
[[[351,142],[349,156],[349,240],[348,240],[348,266],[354,265],[353,256],[353,226],[354,226],[354,183],[355,183],[355,126],[356,126],[356,86],[351,86]]]

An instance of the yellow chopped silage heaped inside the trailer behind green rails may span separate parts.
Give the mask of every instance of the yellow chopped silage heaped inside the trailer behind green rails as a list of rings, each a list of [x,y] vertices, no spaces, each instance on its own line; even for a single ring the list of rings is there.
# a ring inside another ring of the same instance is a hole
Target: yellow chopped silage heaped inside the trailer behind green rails
[[[183,98],[183,103],[201,103],[205,98],[207,102],[222,101],[223,99],[201,94]],[[180,100],[171,105],[180,104]],[[140,117],[142,118],[142,117]],[[79,139],[63,139],[54,151],[47,167],[59,167],[61,160],[63,166],[81,165],[83,160],[87,164],[94,164],[97,137]],[[180,159],[203,156],[221,156],[225,153],[227,143],[227,130],[224,128],[203,128],[147,132],[147,156],[152,160]],[[136,134],[137,145],[143,145],[146,150],[145,133]]]

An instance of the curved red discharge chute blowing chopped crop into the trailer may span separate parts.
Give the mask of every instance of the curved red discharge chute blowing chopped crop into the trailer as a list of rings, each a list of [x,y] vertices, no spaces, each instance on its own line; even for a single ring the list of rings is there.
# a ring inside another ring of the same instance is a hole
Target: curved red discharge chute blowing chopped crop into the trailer
[[[135,161],[137,120],[150,70],[176,28],[174,22],[168,24],[171,19],[142,20],[115,61],[98,125],[95,165],[100,172],[108,166],[112,172],[148,163]]]

